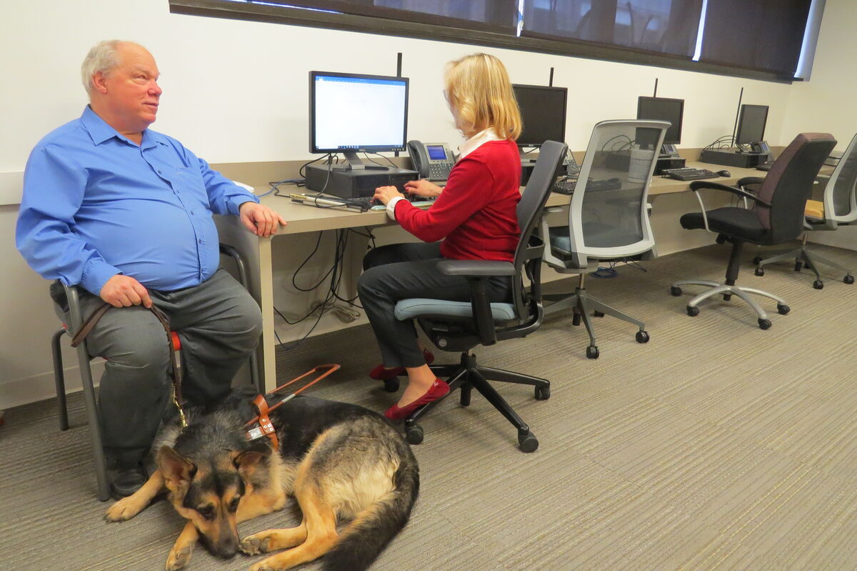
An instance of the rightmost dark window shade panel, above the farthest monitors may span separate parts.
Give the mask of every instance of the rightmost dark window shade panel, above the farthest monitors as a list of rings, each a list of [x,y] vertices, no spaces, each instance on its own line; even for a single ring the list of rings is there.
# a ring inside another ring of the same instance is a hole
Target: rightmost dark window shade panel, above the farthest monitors
[[[708,0],[700,61],[791,77],[811,4],[812,0]]]

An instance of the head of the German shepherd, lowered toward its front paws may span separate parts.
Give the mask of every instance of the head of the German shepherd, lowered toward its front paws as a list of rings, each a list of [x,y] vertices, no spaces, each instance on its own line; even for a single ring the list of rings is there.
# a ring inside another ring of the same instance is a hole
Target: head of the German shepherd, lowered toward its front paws
[[[228,559],[237,553],[237,513],[253,491],[250,476],[269,454],[270,448],[224,450],[191,461],[168,446],[160,449],[158,467],[172,505],[193,522],[213,555]]]

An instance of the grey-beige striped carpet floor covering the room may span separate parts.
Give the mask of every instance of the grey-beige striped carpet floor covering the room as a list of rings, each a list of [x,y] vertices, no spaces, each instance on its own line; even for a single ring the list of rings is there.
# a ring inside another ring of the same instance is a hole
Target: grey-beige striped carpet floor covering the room
[[[857,253],[818,247],[857,268]],[[376,571],[535,569],[857,568],[857,286],[824,273],[812,288],[790,264],[739,283],[786,298],[762,331],[734,298],[697,317],[668,295],[672,280],[720,279],[728,245],[619,267],[590,279],[590,294],[646,322],[597,319],[601,358],[585,358],[571,315],[548,318],[524,340],[478,348],[482,364],[548,378],[500,393],[540,447],[518,450],[516,432],[477,394],[447,400],[423,421],[414,447],[422,493],[411,523]],[[572,280],[549,285],[550,291]],[[438,362],[454,361],[436,352]],[[368,327],[307,340],[279,353],[289,379],[315,364],[342,369],[312,394],[378,411],[397,399],[371,382],[378,361]],[[157,502],[122,524],[102,520],[80,395],[73,428],[57,430],[52,402],[9,410],[0,429],[0,569],[161,569],[182,520]],[[249,534],[297,523],[293,508],[243,523]],[[201,547],[189,569],[246,569],[260,557],[221,561]],[[318,569],[318,563],[304,569]]]

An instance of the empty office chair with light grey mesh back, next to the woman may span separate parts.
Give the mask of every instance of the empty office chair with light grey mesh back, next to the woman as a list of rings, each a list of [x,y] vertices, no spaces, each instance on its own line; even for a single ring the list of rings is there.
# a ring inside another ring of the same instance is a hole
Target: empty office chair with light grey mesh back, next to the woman
[[[574,325],[584,323],[590,344],[586,357],[598,358],[600,352],[590,321],[596,316],[614,316],[638,327],[639,343],[649,340],[644,323],[590,298],[586,292],[586,273],[594,272],[599,261],[630,261],[656,256],[655,238],[651,233],[646,200],[649,183],[655,170],[657,149],[669,127],[665,121],[602,121],[592,129],[589,147],[574,187],[568,207],[568,225],[548,227],[542,218],[545,237],[544,261],[560,273],[580,275],[571,294],[544,294],[552,301],[545,315],[569,308],[574,312]],[[594,180],[613,179],[620,186],[614,189],[590,188],[588,177]],[[548,211],[559,211],[549,208]]]

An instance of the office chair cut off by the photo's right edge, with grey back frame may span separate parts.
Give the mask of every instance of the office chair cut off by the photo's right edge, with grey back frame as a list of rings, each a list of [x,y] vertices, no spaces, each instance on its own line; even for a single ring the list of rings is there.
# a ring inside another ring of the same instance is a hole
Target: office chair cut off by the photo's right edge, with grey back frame
[[[768,264],[794,258],[795,272],[800,272],[801,267],[806,267],[815,273],[815,281],[812,282],[812,287],[817,290],[824,287],[821,274],[818,273],[819,263],[844,272],[845,277],[842,278],[842,281],[846,284],[853,284],[854,274],[851,273],[851,270],[807,249],[806,239],[811,231],[836,230],[841,225],[848,225],[857,221],[857,135],[851,139],[848,148],[842,154],[842,159],[839,160],[839,164],[830,174],[830,178],[824,186],[822,200],[806,201],[804,215],[806,216],[804,222],[806,231],[800,247],[766,252],[769,257],[764,258],[764,260],[762,256],[756,256],[753,258],[753,263],[758,266],[756,275],[764,275],[764,267]]]

